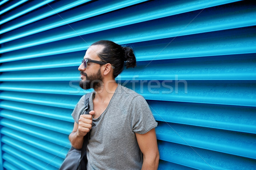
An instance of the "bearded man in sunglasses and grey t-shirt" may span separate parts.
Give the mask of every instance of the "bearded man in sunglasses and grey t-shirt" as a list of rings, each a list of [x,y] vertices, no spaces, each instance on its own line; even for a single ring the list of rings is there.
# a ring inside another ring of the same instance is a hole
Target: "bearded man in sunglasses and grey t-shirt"
[[[156,170],[158,167],[154,130],[157,122],[148,104],[141,95],[114,80],[124,65],[136,66],[133,50],[101,40],[87,49],[78,68],[80,86],[93,88],[94,92],[89,98],[90,115],[81,114],[84,97],[76,105],[69,139],[73,147],[81,149],[84,135],[90,131],[89,170]]]

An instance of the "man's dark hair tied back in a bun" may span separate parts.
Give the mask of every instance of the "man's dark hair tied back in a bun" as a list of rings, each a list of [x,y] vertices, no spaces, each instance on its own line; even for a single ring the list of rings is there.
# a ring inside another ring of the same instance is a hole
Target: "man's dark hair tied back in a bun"
[[[95,45],[104,46],[104,49],[102,49],[102,52],[98,56],[102,61],[111,63],[115,67],[113,71],[114,78],[123,71],[124,66],[126,68],[134,68],[136,66],[136,58],[131,47],[120,46],[109,40],[100,40],[91,46]]]

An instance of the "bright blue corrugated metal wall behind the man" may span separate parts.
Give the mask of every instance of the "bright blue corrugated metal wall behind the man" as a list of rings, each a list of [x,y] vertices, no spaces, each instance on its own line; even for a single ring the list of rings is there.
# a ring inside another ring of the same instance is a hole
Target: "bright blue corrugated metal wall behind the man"
[[[116,78],[158,121],[160,170],[256,168],[256,3],[2,0],[0,169],[57,170],[70,148],[81,58],[133,46]]]

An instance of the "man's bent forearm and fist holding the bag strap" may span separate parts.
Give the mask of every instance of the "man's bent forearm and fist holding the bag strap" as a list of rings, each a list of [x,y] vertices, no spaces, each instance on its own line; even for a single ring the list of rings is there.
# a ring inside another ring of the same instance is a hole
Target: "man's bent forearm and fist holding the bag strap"
[[[84,142],[84,136],[91,130],[93,123],[94,111],[89,112],[90,115],[80,115],[78,124],[75,122],[72,132],[69,135],[69,140],[72,146],[76,149],[81,149]]]

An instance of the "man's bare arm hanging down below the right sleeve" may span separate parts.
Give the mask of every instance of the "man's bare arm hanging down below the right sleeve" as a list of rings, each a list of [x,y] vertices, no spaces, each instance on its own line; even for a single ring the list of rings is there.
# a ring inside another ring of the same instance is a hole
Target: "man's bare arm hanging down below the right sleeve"
[[[155,129],[152,129],[145,134],[135,134],[140,150],[143,153],[142,170],[157,170],[159,151]]]

